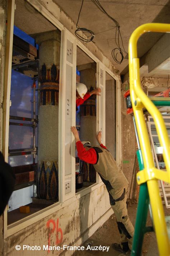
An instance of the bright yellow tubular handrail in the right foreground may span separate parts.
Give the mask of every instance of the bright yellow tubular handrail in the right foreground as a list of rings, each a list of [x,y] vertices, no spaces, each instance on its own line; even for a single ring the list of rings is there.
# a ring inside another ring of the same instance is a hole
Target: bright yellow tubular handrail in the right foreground
[[[170,183],[170,141],[161,113],[143,92],[140,84],[137,40],[146,32],[170,32],[170,24],[143,24],[132,33],[129,40],[130,95],[144,164],[144,170],[137,174],[137,182],[138,184],[147,182],[159,252],[161,256],[167,256],[170,255],[170,246],[157,179]],[[143,108],[146,108],[154,119],[160,145],[163,147],[166,172],[155,168],[150,140],[143,116]]]

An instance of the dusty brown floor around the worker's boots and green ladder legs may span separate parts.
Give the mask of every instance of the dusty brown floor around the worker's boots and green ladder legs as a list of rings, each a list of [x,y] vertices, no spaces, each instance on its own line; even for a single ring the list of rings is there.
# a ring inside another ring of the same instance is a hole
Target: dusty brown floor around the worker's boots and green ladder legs
[[[130,204],[128,203],[128,214],[129,218],[132,221],[132,224],[135,224],[136,219],[136,210],[137,210],[137,204]],[[165,215],[170,215],[170,209],[166,209],[164,206],[164,212]],[[147,218],[147,225],[151,225],[151,218],[148,214]],[[115,251],[112,249],[111,244],[112,243],[119,243],[119,232],[117,228],[117,223],[114,217],[114,214],[110,216],[109,220],[107,220],[103,226],[101,226],[96,232],[91,236],[83,245],[85,245],[87,242],[90,242],[92,246],[110,246],[108,252],[102,252],[102,251],[76,251],[73,256],[91,256],[91,255],[97,255],[97,256],[118,256],[122,255],[121,252]],[[130,254],[128,254],[130,255]],[[157,243],[156,243],[156,237],[155,233],[147,233],[144,237],[143,242],[143,248],[142,248],[142,256],[159,256],[158,250],[157,250]]]

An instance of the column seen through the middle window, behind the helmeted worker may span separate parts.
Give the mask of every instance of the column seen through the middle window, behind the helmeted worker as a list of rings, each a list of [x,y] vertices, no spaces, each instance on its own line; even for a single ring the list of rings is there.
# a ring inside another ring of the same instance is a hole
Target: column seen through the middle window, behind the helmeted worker
[[[80,71],[80,82],[86,84],[88,91],[96,88],[96,70],[93,68]],[[80,140],[90,141],[91,145],[98,145],[96,141],[96,95],[91,97],[81,105],[80,109]],[[84,181],[95,182],[96,171],[93,165],[82,163],[81,173],[84,173]]]

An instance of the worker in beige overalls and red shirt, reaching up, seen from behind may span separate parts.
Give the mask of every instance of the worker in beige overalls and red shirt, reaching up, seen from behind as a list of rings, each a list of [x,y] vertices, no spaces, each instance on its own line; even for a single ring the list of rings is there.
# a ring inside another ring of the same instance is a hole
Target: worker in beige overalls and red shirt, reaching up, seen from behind
[[[121,236],[121,243],[113,243],[112,247],[127,254],[132,248],[134,234],[134,227],[127,212],[128,181],[113,156],[101,143],[101,132],[96,136],[100,146],[91,147],[85,142],[83,142],[84,145],[81,143],[76,127],[71,127],[71,131],[75,136],[79,158],[86,163],[93,164],[109,192],[110,205]]]

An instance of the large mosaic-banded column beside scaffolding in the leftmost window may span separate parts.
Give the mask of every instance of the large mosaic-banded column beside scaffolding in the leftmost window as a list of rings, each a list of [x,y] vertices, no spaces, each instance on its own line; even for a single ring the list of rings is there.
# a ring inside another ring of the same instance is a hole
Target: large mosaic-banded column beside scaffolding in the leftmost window
[[[61,33],[37,35],[40,107],[38,123],[37,195],[58,200],[58,93]]]

